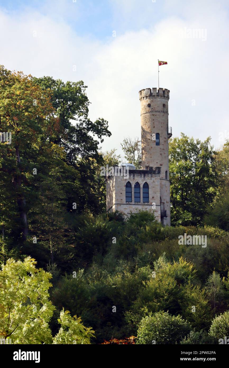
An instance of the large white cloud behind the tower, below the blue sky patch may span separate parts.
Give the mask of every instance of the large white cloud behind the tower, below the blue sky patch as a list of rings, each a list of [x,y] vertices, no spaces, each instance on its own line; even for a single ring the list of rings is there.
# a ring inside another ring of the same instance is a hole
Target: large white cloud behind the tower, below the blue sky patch
[[[134,15],[135,3],[130,3]],[[173,5],[178,4],[180,1]],[[123,14],[125,19],[128,7]],[[82,79],[92,102],[90,117],[104,117],[110,124],[112,136],[105,139],[103,149],[118,148],[120,152],[124,137],[140,137],[138,91],[157,86],[157,59],[166,60],[168,65],[160,67],[160,86],[171,91],[169,125],[173,135],[180,131],[201,139],[211,135],[219,146],[219,132],[229,130],[228,19],[222,3],[215,3],[213,11],[210,2],[209,8],[200,7],[197,13],[190,11],[189,4],[185,15],[167,16],[152,25],[146,22],[146,27],[137,31],[101,41],[79,37],[70,25],[50,14],[27,10],[10,16],[1,12],[0,63],[36,76]],[[207,30],[205,41],[179,37],[180,30],[187,36],[188,29],[199,28]]]

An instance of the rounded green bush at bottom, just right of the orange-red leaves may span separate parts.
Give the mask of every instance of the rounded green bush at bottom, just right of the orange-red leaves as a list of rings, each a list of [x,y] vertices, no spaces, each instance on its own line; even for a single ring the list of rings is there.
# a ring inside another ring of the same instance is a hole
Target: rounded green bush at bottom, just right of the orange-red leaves
[[[157,312],[140,322],[137,331],[137,344],[176,344],[190,332],[187,321],[180,316]]]

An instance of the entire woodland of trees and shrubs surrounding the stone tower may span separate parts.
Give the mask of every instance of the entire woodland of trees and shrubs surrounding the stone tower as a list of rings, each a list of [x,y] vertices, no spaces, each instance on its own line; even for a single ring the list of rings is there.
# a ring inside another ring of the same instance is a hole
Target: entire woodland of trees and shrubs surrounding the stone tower
[[[0,142],[0,338],[218,344],[229,336],[229,142],[170,139],[171,227],[107,214],[100,167],[121,157],[101,152],[111,132],[90,120],[86,88],[0,67],[0,132],[11,132]],[[140,167],[139,139],[121,146]],[[179,245],[185,233],[207,247]]]

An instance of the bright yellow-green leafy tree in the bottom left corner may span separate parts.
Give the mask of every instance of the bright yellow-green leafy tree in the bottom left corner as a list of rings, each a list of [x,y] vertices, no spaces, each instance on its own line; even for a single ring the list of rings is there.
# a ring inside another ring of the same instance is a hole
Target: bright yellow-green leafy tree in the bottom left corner
[[[52,342],[51,274],[35,265],[31,257],[24,262],[9,259],[0,270],[0,336],[13,344]]]

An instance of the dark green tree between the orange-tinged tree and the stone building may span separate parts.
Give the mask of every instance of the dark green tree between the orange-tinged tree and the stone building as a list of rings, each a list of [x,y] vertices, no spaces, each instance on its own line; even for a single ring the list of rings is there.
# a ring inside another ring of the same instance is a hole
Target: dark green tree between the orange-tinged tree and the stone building
[[[100,213],[104,210],[104,188],[98,166],[103,166],[99,145],[110,137],[108,122],[103,118],[91,121],[88,117],[89,100],[83,81],[64,83],[52,77],[33,78],[43,89],[51,91],[51,102],[60,122],[53,142],[64,148],[66,162],[79,172],[79,212]],[[100,203],[100,199],[101,202]]]

